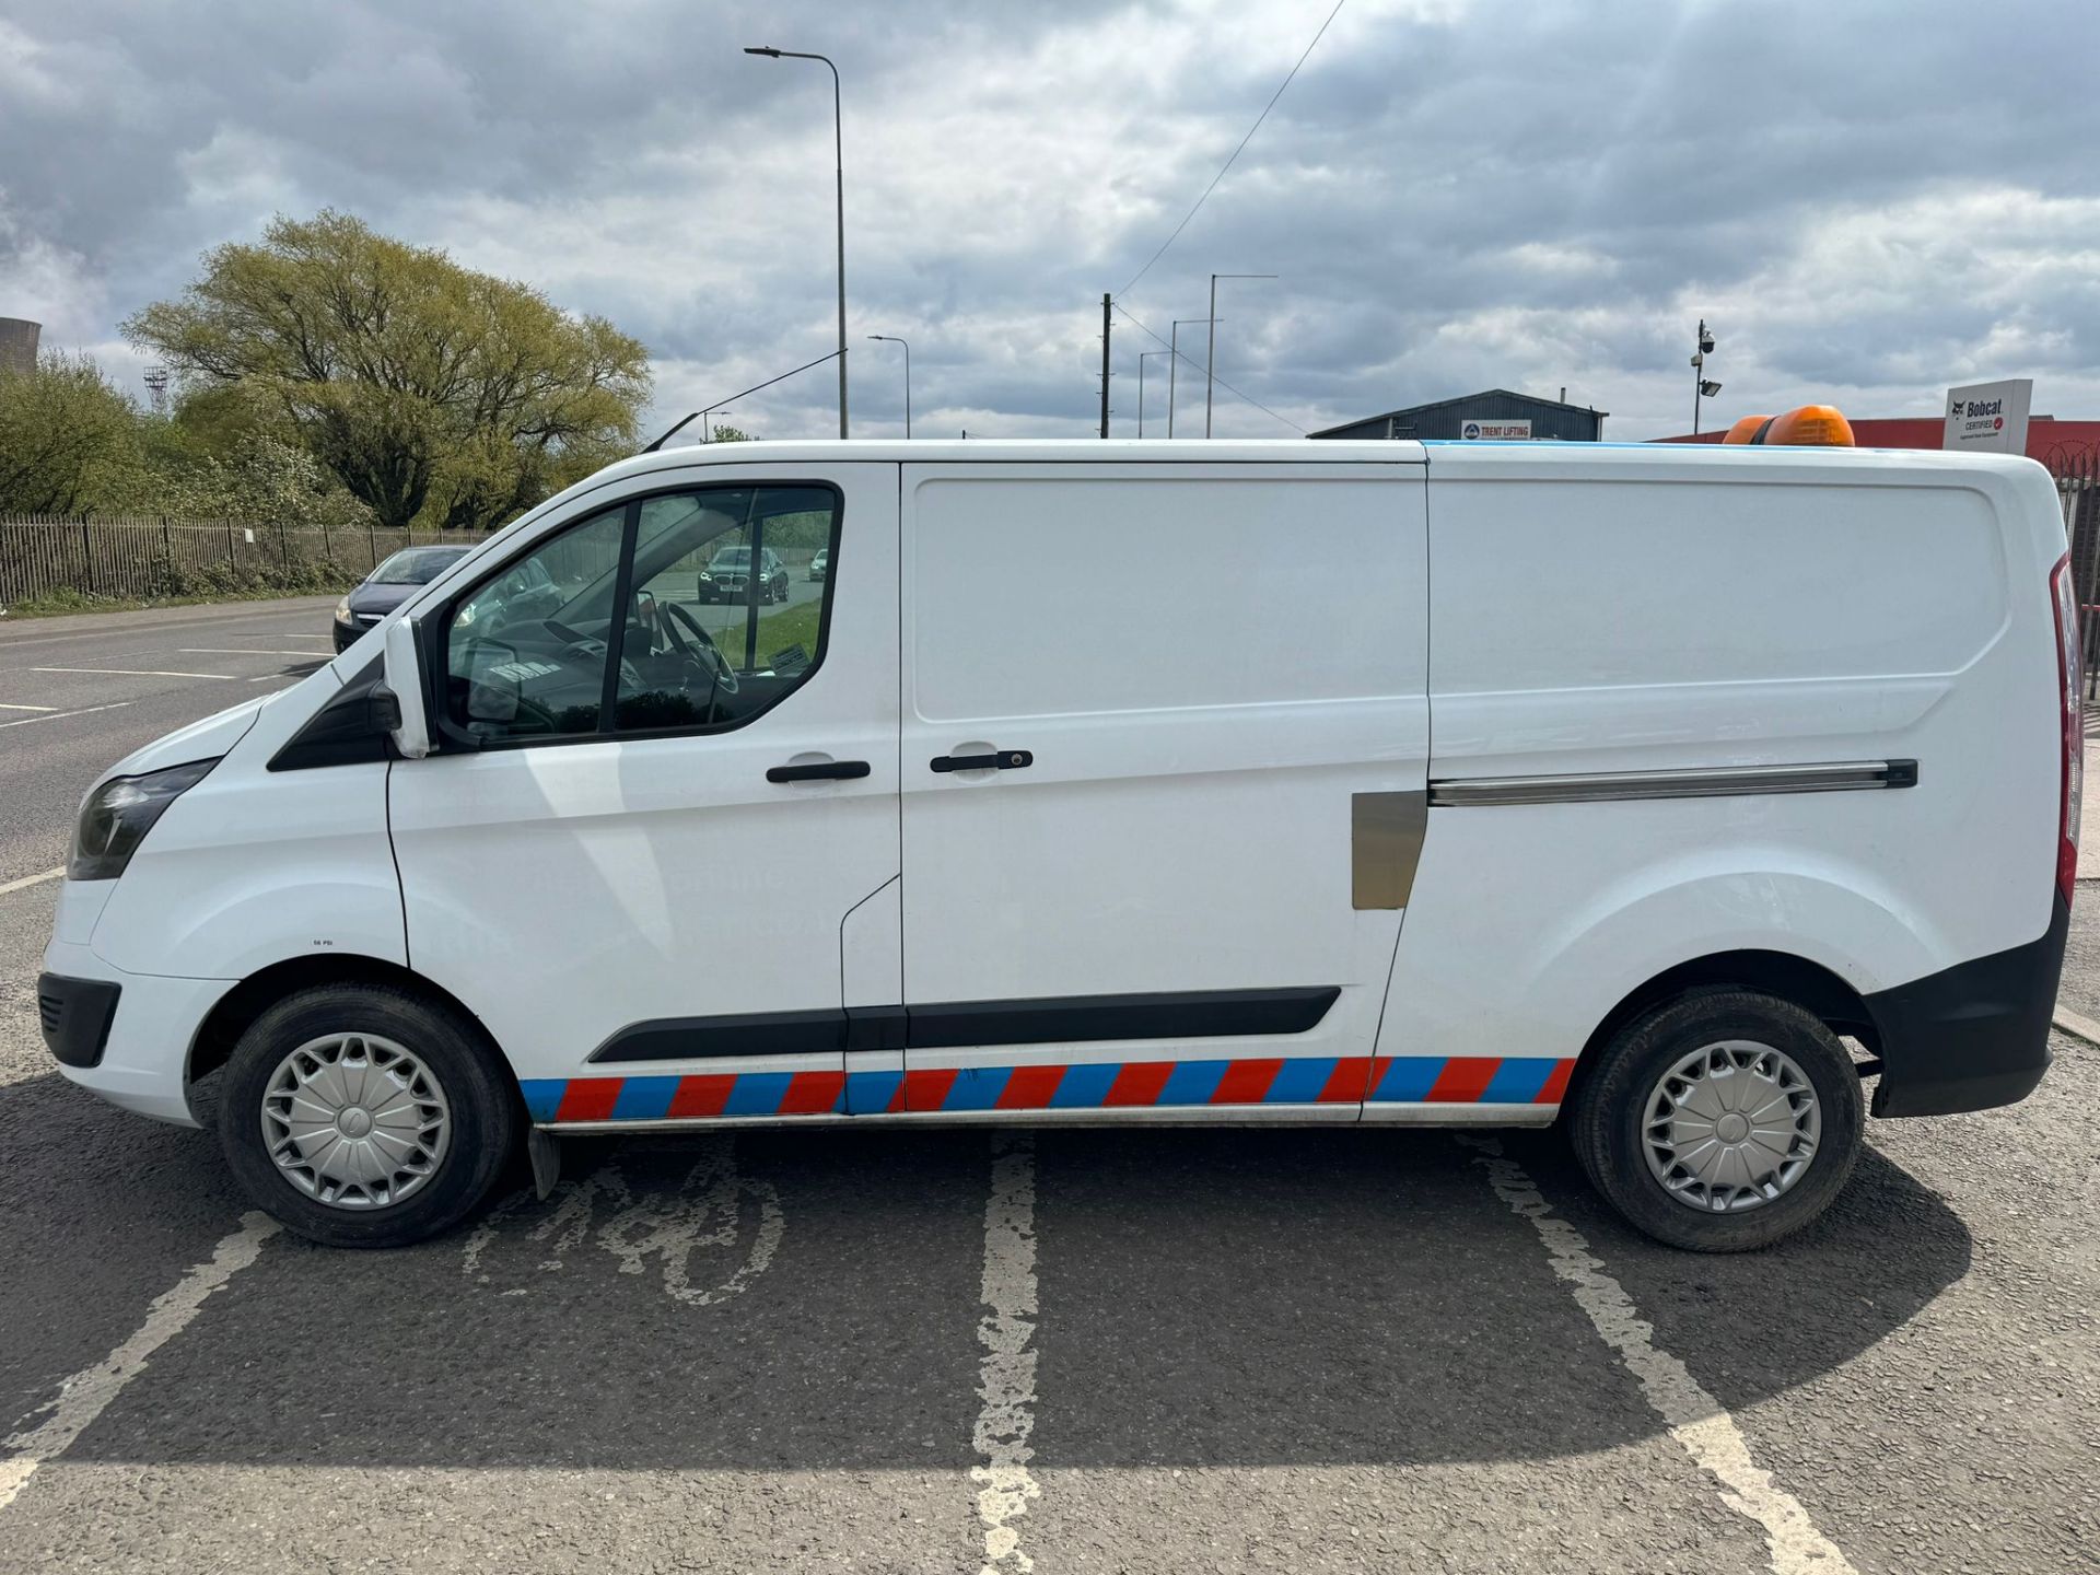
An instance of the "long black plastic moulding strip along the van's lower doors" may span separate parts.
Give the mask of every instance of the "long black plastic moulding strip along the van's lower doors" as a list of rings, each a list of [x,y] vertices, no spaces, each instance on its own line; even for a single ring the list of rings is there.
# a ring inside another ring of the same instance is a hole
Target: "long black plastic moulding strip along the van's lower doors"
[[[1340,985],[1317,985],[674,1016],[620,1029],[590,1052],[590,1060],[704,1060],[844,1050],[947,1050],[976,1044],[1304,1033],[1327,1016],[1327,1008],[1340,995]]]

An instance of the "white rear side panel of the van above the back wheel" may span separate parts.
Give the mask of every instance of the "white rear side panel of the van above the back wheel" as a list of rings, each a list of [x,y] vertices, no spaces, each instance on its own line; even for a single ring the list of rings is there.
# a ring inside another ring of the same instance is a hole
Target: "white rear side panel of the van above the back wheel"
[[[1936,456],[1436,452],[1432,792],[1380,1054],[1573,1056],[1640,985],[1720,951],[1871,998],[2043,937],[2045,525],[2012,466]],[[1556,788],[1840,762],[1917,779]],[[1478,779],[1548,802],[1438,804]]]

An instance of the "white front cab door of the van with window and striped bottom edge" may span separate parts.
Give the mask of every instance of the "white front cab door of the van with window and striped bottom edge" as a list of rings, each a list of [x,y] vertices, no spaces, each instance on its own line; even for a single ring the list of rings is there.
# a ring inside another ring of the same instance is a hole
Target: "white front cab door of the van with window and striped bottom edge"
[[[437,752],[388,777],[412,966],[540,1124],[842,1113],[846,1008],[899,1004],[867,903],[899,874],[897,472],[647,481],[418,617],[445,680]],[[718,598],[731,548],[838,567]]]

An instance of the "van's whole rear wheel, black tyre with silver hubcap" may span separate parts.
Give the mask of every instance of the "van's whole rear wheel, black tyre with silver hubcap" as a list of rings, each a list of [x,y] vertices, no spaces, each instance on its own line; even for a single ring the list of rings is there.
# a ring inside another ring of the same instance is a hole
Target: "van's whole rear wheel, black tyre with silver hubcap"
[[[1716,989],[1657,1006],[1586,1073],[1575,1157],[1619,1214],[1672,1247],[1768,1247],[1829,1208],[1858,1159],[1852,1056],[1777,995]]]

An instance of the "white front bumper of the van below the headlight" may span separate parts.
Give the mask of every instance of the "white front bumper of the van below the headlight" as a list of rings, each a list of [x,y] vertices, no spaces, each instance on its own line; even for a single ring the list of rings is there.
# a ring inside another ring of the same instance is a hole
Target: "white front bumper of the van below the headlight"
[[[67,1060],[74,1040],[61,1050],[46,1029],[59,1071],[69,1082],[155,1121],[197,1126],[197,1117],[189,1113],[189,1048],[197,1042],[204,1018],[235,981],[128,974],[111,968],[84,943],[52,941],[44,949],[38,995],[52,983],[65,995],[65,1012],[97,1000],[109,1008],[107,1023],[90,1023],[97,1029],[90,1037],[99,1042],[101,1054],[82,1056],[86,1065]]]

